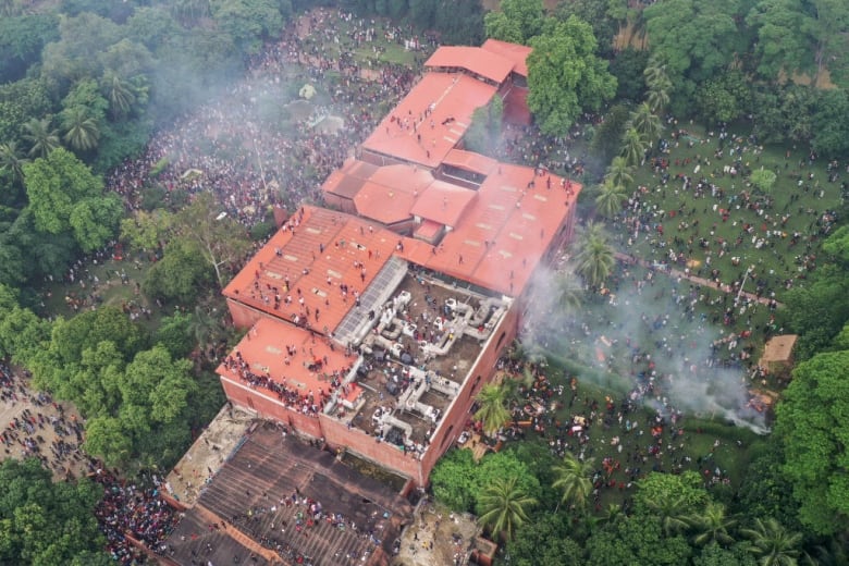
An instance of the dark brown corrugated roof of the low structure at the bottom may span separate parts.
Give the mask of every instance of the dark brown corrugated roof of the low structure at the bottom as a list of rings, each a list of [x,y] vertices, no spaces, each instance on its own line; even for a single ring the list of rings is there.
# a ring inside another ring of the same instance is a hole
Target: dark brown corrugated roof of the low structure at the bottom
[[[396,493],[262,422],[165,544],[186,565],[385,565],[411,519]]]

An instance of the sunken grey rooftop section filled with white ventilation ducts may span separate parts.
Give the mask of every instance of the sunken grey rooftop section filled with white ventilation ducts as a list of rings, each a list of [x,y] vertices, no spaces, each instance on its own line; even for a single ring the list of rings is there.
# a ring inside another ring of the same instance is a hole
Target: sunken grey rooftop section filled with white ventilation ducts
[[[411,272],[356,343],[362,356],[357,405],[329,406],[327,413],[423,452],[508,306]]]

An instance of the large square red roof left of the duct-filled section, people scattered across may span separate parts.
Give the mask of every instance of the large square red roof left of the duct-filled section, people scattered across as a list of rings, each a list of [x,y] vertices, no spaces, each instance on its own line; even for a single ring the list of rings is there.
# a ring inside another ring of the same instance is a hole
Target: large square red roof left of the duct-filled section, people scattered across
[[[276,318],[297,317],[299,323],[306,320],[312,329],[327,333],[350,310],[355,293],[368,286],[398,239],[394,232],[357,217],[303,207],[223,293]],[[348,287],[344,297],[341,284]],[[275,295],[280,295],[278,308]],[[291,297],[288,305],[286,296]]]

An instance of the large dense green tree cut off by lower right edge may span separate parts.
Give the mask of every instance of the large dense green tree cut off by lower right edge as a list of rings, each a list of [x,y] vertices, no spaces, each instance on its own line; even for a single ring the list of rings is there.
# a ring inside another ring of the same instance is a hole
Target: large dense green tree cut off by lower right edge
[[[800,504],[799,519],[820,534],[849,525],[847,368],[849,350],[816,354],[796,367],[776,407],[776,432],[786,453],[784,471]]]

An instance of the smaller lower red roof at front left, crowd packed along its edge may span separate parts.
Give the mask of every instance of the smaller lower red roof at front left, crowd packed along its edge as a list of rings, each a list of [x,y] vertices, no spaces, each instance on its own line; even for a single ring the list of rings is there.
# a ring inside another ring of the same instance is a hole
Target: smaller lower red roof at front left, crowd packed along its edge
[[[317,339],[307,330],[263,318],[254,324],[229,357],[236,360],[237,354],[241,354],[251,373],[268,377],[290,391],[297,391],[302,397],[311,392],[318,403],[319,391],[330,394],[334,373],[342,381],[356,359],[345,356],[344,348],[336,345],[331,348],[329,340]],[[239,381],[238,368],[233,364],[224,362],[217,371],[220,376]],[[274,393],[264,389],[257,391],[276,398]],[[354,383],[348,385],[345,398],[354,399],[358,394],[359,386]]]

